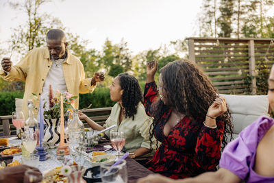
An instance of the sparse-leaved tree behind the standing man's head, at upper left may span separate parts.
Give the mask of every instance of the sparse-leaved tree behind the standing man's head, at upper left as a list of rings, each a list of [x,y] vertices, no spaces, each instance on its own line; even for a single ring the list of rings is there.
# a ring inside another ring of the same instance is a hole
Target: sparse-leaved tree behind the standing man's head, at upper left
[[[40,13],[42,5],[49,2],[51,0],[10,1],[10,6],[14,10],[20,10],[27,14],[27,21],[12,30],[10,42],[12,47],[16,46],[18,53],[25,54],[35,47],[45,46],[45,35],[49,29],[62,27],[60,20],[49,14]]]

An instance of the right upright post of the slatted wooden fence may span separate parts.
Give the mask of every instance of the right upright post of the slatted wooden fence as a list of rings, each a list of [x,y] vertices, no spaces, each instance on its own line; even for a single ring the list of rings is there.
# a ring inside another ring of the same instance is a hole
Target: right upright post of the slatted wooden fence
[[[251,77],[251,95],[256,95],[256,70],[255,70],[255,51],[254,40],[249,40],[249,76]]]

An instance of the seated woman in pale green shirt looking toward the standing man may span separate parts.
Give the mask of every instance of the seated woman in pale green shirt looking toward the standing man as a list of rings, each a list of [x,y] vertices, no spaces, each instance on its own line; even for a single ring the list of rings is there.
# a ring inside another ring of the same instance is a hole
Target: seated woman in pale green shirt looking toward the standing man
[[[114,130],[125,133],[123,151],[134,152],[132,158],[152,156],[155,149],[155,138],[152,138],[152,146],[149,141],[149,127],[152,119],[147,116],[142,104],[142,91],[138,80],[127,73],[119,74],[110,86],[110,99],[117,103],[113,106],[104,127],[116,124]],[[85,120],[93,130],[104,129],[81,112],[79,118]],[[110,136],[109,131],[105,134]]]

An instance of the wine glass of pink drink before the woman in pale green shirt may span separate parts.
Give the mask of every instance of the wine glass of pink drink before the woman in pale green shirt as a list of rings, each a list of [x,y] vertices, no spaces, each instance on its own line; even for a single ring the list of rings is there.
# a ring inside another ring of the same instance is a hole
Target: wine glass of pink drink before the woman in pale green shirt
[[[117,151],[120,159],[120,152],[125,145],[125,133],[114,130],[110,131],[110,142],[112,143],[112,147]]]

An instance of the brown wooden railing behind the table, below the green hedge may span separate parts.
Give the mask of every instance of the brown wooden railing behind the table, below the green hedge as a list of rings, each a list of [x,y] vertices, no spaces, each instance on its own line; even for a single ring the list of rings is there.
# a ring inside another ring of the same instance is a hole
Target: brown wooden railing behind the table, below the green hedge
[[[111,110],[112,108],[94,108],[81,111],[93,121],[103,125],[105,120],[110,116]],[[85,122],[84,125],[85,127],[88,127],[88,124]],[[16,127],[12,124],[12,116],[0,116],[0,136],[8,136],[13,134],[16,134]]]

